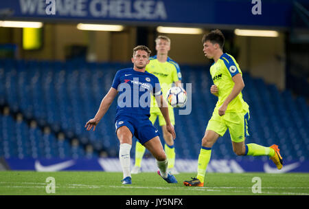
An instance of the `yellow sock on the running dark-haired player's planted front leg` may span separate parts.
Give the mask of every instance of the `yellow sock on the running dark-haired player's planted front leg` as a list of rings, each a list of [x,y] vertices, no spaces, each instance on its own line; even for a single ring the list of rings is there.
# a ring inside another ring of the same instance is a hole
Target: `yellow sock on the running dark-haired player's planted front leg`
[[[200,155],[198,155],[198,174],[196,178],[204,182],[206,168],[211,157],[211,148],[202,146]]]

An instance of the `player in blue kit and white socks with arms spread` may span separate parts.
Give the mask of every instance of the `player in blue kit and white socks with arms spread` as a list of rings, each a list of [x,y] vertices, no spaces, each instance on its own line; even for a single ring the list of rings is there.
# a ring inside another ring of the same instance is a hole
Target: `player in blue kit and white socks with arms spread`
[[[122,184],[132,184],[130,175],[130,149],[133,135],[143,144],[157,160],[157,173],[168,183],[177,183],[176,178],[168,173],[168,159],[159,139],[158,130],[149,120],[151,94],[155,96],[157,104],[166,122],[166,128],[173,138],[176,137],[174,126],[170,122],[168,104],[163,99],[158,78],[145,71],[149,63],[151,51],[144,45],[133,50],[131,61],[133,67],[120,69],[113,80],[111,89],[102,99],[95,117],[89,120],[85,128],[90,131],[100,122],[114,98],[117,99],[115,118],[116,134],[120,142],[119,160],[124,173]]]

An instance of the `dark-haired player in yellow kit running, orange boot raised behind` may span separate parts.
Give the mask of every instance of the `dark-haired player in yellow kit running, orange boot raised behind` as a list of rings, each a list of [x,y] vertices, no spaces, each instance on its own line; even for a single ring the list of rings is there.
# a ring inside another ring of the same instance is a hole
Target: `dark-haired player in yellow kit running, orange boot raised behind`
[[[248,120],[249,105],[242,99],[244,81],[242,72],[233,56],[223,53],[225,37],[220,30],[213,30],[203,36],[203,52],[209,59],[214,59],[210,67],[211,78],[214,85],[210,92],[218,96],[218,102],[207,124],[202,147],[198,155],[197,175],[192,180],[183,181],[185,186],[204,186],[205,172],[211,156],[211,147],[218,137],[229,129],[233,151],[236,155],[261,156],[267,155],[282,168],[282,157],[277,145],[266,147],[259,144],[245,144],[249,135]]]

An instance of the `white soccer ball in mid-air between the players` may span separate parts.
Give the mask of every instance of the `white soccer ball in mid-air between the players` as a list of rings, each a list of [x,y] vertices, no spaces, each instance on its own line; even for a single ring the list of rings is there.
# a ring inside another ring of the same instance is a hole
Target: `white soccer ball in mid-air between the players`
[[[187,92],[181,87],[172,87],[168,89],[167,99],[172,107],[185,107]]]

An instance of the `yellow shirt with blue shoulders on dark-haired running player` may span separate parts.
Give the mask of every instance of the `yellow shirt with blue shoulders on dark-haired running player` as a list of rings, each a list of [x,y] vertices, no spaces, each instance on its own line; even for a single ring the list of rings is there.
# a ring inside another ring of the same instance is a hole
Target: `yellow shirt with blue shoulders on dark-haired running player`
[[[231,94],[234,86],[232,77],[236,74],[242,74],[242,72],[235,58],[224,53],[216,63],[211,65],[210,74],[214,85],[218,87],[218,102],[215,107],[215,110],[218,110],[227,96]],[[227,112],[242,112],[247,110],[249,110],[249,105],[242,99],[242,92],[227,105]]]

